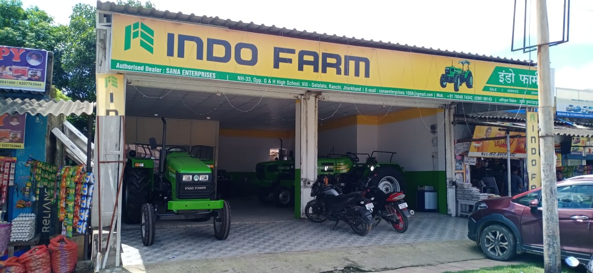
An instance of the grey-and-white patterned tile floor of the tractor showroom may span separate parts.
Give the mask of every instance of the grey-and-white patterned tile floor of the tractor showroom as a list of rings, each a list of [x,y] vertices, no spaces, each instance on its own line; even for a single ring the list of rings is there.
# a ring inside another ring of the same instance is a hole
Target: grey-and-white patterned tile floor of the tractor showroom
[[[366,236],[359,236],[340,222],[313,223],[290,220],[277,223],[235,223],[226,241],[214,238],[212,225],[193,228],[157,229],[155,243],[142,245],[140,232],[122,230],[123,265],[218,258],[246,254],[306,251],[350,246],[390,245],[466,239],[467,219],[417,213],[406,233],[397,233],[381,222]]]

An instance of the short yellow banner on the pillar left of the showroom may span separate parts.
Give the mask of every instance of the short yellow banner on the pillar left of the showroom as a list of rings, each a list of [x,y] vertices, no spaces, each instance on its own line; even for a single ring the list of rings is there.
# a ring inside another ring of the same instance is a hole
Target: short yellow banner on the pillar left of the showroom
[[[123,116],[125,113],[123,74],[97,74],[97,116]]]

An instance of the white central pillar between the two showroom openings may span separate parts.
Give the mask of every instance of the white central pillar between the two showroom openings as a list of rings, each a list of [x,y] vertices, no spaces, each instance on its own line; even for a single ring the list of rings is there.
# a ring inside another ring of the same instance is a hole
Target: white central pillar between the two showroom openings
[[[295,141],[301,168],[301,217],[305,217],[305,205],[311,200],[311,186],[317,178],[317,96],[307,92],[299,104]]]

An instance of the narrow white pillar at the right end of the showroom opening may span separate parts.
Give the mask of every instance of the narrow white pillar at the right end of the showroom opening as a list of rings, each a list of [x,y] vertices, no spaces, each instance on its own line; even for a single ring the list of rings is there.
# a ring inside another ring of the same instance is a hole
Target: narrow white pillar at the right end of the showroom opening
[[[455,186],[451,181],[455,178],[455,134],[452,124],[455,106],[445,108],[445,171],[447,172],[447,213],[457,216],[457,200],[455,200]]]

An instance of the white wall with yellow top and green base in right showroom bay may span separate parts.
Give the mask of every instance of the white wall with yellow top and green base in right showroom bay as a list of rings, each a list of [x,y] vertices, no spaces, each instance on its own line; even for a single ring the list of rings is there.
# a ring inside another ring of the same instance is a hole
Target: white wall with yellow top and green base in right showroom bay
[[[436,132],[431,132],[431,125],[436,126]],[[320,122],[318,143],[319,155],[332,148],[336,154],[397,152],[393,161],[406,171],[407,191],[415,193],[418,186],[433,186],[438,191],[439,212],[447,213],[443,109],[410,108],[385,116],[358,115]],[[389,160],[388,155],[378,158]],[[406,201],[416,206],[415,194],[406,196]]]

